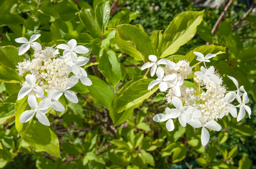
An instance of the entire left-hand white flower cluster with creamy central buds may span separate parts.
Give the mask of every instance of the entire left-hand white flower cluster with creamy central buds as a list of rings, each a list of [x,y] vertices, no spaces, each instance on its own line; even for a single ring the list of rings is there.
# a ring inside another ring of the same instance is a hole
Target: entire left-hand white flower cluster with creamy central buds
[[[92,81],[87,77],[86,70],[81,66],[89,61],[87,57],[77,56],[86,54],[88,48],[78,45],[75,39],[66,44],[58,45],[57,48],[64,50],[63,56],[59,56],[58,49],[53,47],[42,47],[36,41],[40,34],[32,35],[28,41],[26,38],[15,39],[18,43],[24,43],[19,48],[19,55],[25,54],[32,47],[35,51],[32,60],[24,60],[19,63],[20,76],[25,76],[25,82],[18,94],[18,100],[28,95],[28,104],[33,110],[27,110],[20,115],[20,123],[28,122],[36,113],[36,118],[45,126],[50,122],[45,113],[52,107],[58,112],[65,110],[58,101],[63,94],[72,103],[78,103],[78,97],[74,91],[69,90],[80,81],[91,86]],[[70,77],[70,74],[72,75]],[[40,102],[39,102],[40,101]],[[39,102],[39,104],[38,104]]]

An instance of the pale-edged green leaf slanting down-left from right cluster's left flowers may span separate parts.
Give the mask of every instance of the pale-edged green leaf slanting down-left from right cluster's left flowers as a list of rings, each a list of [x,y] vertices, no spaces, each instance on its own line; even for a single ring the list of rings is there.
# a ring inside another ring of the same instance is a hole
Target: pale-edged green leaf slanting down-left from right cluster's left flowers
[[[148,84],[152,81],[153,79],[140,79],[127,87],[118,98],[116,109],[113,111],[120,113],[148,99],[158,89],[155,86],[151,90],[147,90]]]

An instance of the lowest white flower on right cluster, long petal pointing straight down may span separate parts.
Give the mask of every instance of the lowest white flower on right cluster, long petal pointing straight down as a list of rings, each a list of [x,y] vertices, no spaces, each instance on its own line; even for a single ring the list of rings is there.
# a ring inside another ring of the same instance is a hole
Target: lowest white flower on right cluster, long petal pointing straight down
[[[190,121],[190,122],[187,122],[187,123],[189,123],[191,126],[193,126],[195,128],[203,127],[202,128],[202,134],[201,134],[201,142],[202,142],[203,146],[206,146],[206,144],[210,140],[210,134],[209,134],[209,132],[207,131],[206,128],[209,128],[209,129],[215,130],[215,131],[220,131],[221,130],[221,126],[217,122],[210,121],[210,122],[204,123],[202,118],[200,118],[200,121],[199,121],[199,119],[195,119],[195,121]]]

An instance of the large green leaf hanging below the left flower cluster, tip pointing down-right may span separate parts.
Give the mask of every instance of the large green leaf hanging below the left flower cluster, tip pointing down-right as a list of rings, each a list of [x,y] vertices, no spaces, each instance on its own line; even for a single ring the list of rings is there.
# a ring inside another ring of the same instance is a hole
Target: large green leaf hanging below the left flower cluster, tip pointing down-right
[[[36,152],[47,152],[61,158],[58,136],[52,128],[44,126],[38,121],[32,121],[21,136],[25,143]]]

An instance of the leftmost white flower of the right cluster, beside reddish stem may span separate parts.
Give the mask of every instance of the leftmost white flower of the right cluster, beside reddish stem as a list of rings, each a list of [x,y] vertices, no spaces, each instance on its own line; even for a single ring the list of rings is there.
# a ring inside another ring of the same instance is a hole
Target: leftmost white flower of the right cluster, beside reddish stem
[[[147,69],[147,68],[151,68],[150,70],[150,74],[151,76],[155,75],[157,66],[163,64],[163,65],[167,65],[166,60],[167,59],[160,59],[159,61],[156,62],[157,57],[155,55],[150,55],[148,56],[148,59],[150,59],[152,62],[147,62],[144,65],[142,65],[142,67],[140,68],[141,70]],[[163,69],[163,68],[158,68],[158,69]]]

